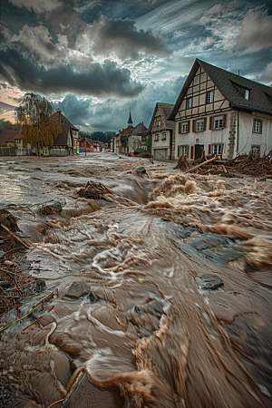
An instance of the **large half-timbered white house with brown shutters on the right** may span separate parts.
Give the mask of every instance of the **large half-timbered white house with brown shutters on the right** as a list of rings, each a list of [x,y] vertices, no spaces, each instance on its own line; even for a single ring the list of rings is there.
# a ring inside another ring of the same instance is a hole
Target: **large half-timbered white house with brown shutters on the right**
[[[272,88],[197,59],[170,113],[174,159],[272,149]]]

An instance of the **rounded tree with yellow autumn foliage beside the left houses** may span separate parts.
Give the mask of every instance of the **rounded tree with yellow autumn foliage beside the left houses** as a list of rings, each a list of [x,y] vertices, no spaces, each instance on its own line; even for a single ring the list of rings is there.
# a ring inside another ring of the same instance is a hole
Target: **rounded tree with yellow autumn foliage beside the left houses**
[[[22,141],[39,154],[40,149],[52,146],[53,139],[62,128],[53,116],[53,103],[32,92],[25,93],[23,101],[15,109],[16,120],[22,127]]]

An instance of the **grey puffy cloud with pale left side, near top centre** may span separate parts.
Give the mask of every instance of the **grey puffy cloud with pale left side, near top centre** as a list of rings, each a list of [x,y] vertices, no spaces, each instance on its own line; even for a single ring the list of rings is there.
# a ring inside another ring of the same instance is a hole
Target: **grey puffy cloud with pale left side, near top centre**
[[[115,53],[121,60],[136,60],[140,53],[167,57],[170,49],[151,31],[137,30],[129,18],[111,19],[100,15],[97,21],[86,24],[79,34],[75,48],[83,53],[109,56]]]

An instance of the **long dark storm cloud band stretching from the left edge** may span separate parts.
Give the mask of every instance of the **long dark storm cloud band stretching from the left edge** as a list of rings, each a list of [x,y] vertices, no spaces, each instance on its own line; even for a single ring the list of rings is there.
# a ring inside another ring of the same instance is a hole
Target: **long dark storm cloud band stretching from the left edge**
[[[143,85],[131,80],[131,72],[120,69],[116,63],[91,63],[88,70],[75,71],[63,64],[46,69],[24,57],[13,48],[0,51],[0,75],[23,91],[78,92],[95,96],[115,95],[132,97],[143,90]]]

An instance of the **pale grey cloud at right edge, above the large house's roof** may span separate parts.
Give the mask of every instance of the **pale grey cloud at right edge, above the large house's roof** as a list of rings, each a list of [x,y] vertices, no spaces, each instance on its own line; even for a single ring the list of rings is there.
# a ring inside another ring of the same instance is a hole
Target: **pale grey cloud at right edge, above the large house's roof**
[[[245,53],[255,53],[272,46],[272,15],[267,11],[249,10],[243,18],[238,47]]]

